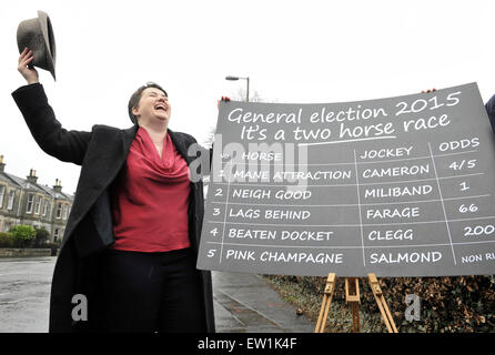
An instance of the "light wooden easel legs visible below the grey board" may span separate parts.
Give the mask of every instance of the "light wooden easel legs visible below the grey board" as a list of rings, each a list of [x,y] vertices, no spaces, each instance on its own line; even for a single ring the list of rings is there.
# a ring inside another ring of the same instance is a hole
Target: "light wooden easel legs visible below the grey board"
[[[373,291],[376,303],[382,314],[382,320],[386,325],[388,333],[398,333],[395,327],[392,314],[386,305],[382,288],[380,288],[378,280],[375,274],[367,274],[370,287]],[[326,318],[329,317],[330,305],[332,304],[333,292],[335,291],[335,273],[330,273],[326,278],[325,291],[323,295],[322,307],[317,318],[314,333],[323,333],[325,331]],[[353,332],[361,332],[360,322],[360,284],[356,277],[345,277],[345,303],[351,304]]]

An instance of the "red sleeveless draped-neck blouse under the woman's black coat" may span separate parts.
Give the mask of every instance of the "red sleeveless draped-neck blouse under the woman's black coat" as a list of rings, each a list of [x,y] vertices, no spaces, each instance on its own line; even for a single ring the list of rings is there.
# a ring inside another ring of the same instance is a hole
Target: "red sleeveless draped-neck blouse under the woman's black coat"
[[[160,158],[140,126],[112,193],[113,248],[166,252],[190,246],[189,168],[169,133]]]

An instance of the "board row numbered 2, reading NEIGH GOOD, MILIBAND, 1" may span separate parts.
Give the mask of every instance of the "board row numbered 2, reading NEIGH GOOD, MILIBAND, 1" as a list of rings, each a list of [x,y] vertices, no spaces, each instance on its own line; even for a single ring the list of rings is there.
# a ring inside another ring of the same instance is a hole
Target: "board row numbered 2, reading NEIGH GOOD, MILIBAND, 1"
[[[410,181],[391,184],[343,185],[264,185],[219,184],[209,186],[208,202],[277,206],[334,206],[348,204],[414,203],[485,199],[494,187],[485,175],[456,176],[443,180]]]

